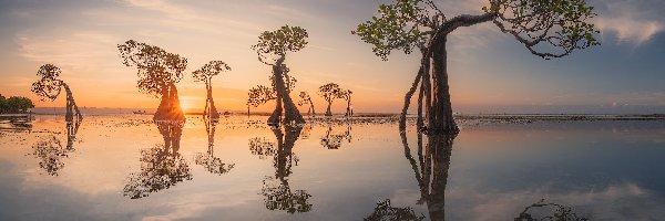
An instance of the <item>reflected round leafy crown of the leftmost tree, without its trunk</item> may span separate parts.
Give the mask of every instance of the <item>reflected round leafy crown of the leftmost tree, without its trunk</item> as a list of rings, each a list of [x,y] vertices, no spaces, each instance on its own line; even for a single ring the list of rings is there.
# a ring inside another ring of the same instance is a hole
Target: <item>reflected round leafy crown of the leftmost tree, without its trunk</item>
[[[55,136],[49,136],[34,146],[32,146],[33,155],[41,161],[39,167],[47,170],[51,176],[58,176],[58,171],[64,167],[62,158],[66,158],[73,149],[64,148]]]

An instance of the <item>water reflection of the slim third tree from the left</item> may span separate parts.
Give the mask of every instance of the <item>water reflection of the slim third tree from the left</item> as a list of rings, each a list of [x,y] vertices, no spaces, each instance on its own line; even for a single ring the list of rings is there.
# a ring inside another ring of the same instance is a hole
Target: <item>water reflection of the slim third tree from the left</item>
[[[224,164],[222,159],[215,157],[214,155],[214,146],[215,146],[215,128],[217,127],[217,120],[211,117],[203,117],[203,122],[205,124],[205,131],[208,137],[208,149],[206,154],[197,152],[195,162],[196,165],[203,166],[207,171],[215,175],[223,175],[228,172],[231,169],[235,167],[235,164]]]

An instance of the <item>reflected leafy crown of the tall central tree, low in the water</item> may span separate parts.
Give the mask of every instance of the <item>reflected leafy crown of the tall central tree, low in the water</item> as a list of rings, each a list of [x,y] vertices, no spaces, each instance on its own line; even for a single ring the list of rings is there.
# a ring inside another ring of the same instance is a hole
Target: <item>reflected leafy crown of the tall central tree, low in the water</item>
[[[311,194],[305,190],[295,190],[291,192],[287,180],[280,181],[272,177],[266,177],[260,191],[266,197],[265,202],[268,210],[284,210],[288,213],[308,212],[311,210],[311,204],[307,202],[307,199]]]

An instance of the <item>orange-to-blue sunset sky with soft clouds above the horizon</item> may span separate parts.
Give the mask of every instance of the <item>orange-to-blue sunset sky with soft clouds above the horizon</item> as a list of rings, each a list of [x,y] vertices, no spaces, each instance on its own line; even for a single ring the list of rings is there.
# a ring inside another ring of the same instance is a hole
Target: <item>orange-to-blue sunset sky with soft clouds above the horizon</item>
[[[388,0],[0,0],[0,94],[27,96],[38,107],[64,106],[64,96],[41,102],[30,93],[45,63],[81,107],[156,108],[158,98],[136,88],[136,69],[116,49],[127,40],[188,59],[177,84],[187,112],[205,106],[205,86],[191,73],[212,60],[231,72],[213,78],[221,110],[246,109],[247,92],[269,85],[270,67],[250,45],[284,24],[309,33],[287,54],[296,91],[316,95],[327,83],[354,91],[356,113],[398,113],[418,71],[419,55],[395,51],[387,62],[350,33]],[[601,33],[594,46],[551,61],[532,55],[491,22],[456,30],[448,41],[453,110],[458,113],[665,113],[665,1],[587,0]],[[451,18],[480,14],[487,0],[439,0]],[[291,94],[297,98],[297,94]],[[270,110],[268,103],[255,110]],[[334,112],[344,112],[336,101]],[[300,107],[307,112],[306,107]]]

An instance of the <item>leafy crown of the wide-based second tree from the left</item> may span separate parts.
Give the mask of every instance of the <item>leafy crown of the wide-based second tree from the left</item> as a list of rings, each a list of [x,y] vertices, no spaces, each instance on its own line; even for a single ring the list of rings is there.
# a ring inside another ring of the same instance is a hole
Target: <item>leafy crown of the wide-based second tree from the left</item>
[[[136,66],[139,70],[139,91],[155,97],[161,95],[162,88],[170,83],[180,82],[183,71],[187,67],[187,59],[134,40],[119,44],[117,50],[124,65]]]

